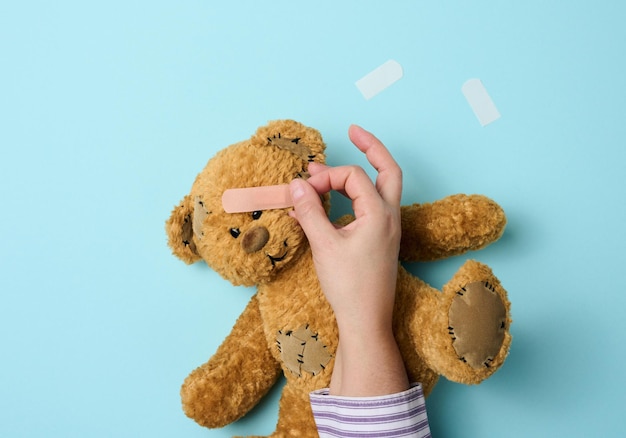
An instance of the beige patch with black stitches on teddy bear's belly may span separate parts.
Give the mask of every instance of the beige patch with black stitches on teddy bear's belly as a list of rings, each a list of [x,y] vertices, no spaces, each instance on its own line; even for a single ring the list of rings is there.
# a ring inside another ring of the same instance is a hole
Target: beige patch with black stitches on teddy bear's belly
[[[299,377],[303,371],[314,376],[321,373],[331,358],[326,346],[320,342],[317,333],[309,329],[308,324],[297,330],[280,330],[276,344],[289,371]]]

